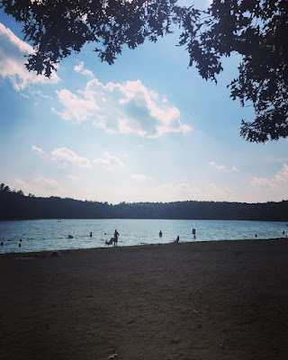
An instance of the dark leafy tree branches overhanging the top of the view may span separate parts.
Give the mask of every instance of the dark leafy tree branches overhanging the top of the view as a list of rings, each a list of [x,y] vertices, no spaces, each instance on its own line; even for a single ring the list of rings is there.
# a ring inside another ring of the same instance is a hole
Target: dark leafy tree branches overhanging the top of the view
[[[26,67],[45,76],[87,42],[112,64],[123,46],[157,41],[178,26],[189,66],[206,80],[216,81],[222,57],[241,56],[230,96],[256,112],[253,122],[242,121],[241,136],[257,142],[288,136],[286,0],[214,0],[205,12],[177,0],[0,0],[0,7],[23,23],[36,49]]]

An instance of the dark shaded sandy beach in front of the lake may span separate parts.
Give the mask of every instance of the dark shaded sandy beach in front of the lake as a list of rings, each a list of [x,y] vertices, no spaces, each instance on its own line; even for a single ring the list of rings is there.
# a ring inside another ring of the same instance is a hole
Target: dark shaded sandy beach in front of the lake
[[[1,359],[288,358],[288,240],[0,256]]]

